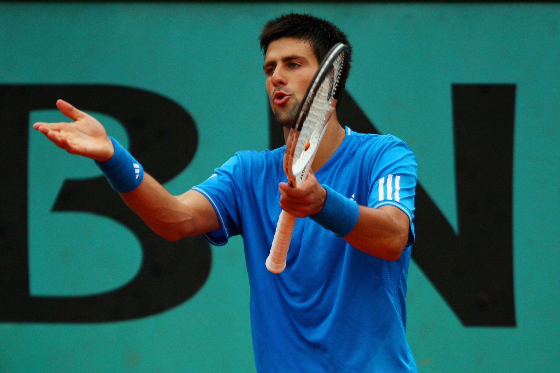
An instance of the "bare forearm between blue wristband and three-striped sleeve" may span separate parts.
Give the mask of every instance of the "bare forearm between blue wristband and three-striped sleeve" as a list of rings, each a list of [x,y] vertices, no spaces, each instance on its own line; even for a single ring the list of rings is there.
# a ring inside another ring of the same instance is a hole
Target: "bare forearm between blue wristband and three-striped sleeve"
[[[359,206],[358,221],[344,240],[367,254],[394,261],[400,257],[408,240],[408,225],[404,229],[408,217],[399,219],[396,214],[402,211],[391,211],[387,207],[398,210],[393,206],[379,209]]]

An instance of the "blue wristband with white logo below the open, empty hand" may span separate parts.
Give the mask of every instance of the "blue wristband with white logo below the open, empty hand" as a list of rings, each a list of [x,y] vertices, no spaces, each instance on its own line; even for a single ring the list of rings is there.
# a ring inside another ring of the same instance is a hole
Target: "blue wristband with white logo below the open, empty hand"
[[[97,162],[96,160],[95,164],[101,168],[115,191],[119,193],[130,192],[142,182],[144,169],[118,141],[112,136],[109,136],[109,139],[113,141],[113,147],[115,148],[113,157],[106,162]]]

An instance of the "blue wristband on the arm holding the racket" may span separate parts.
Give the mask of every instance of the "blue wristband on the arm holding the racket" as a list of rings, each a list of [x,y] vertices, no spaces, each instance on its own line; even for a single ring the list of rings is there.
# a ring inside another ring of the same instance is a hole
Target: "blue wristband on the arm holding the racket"
[[[309,217],[323,228],[332,230],[338,237],[345,237],[352,232],[358,222],[358,215],[360,215],[358,204],[328,185],[321,184],[321,186],[326,190],[325,204],[318,214]]]

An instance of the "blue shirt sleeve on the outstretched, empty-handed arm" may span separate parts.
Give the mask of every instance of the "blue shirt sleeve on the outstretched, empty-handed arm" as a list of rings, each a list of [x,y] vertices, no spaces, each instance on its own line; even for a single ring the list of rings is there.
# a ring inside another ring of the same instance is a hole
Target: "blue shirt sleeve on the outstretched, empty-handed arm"
[[[212,176],[192,188],[210,201],[220,220],[220,229],[203,234],[213,245],[225,245],[230,237],[239,234],[242,180],[241,157],[236,153],[221,167],[214,169]]]

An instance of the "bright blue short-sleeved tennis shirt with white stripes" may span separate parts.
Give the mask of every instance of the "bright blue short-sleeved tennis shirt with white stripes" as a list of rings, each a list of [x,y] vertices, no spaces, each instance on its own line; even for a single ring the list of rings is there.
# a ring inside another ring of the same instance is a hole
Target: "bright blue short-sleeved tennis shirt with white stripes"
[[[250,282],[250,313],[259,373],[417,372],[405,338],[407,273],[414,241],[416,158],[391,135],[346,136],[315,172],[359,205],[392,205],[410,219],[397,261],[363,253],[315,221],[297,219],[286,269],[264,262],[281,212],[278,184],[285,147],[236,153],[193,189],[212,203],[221,229],[214,245],[241,234]]]

